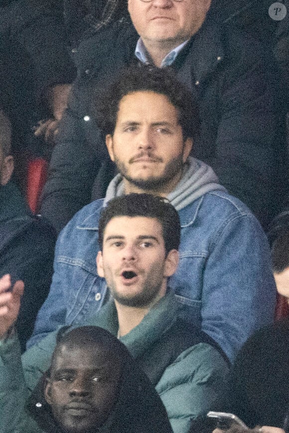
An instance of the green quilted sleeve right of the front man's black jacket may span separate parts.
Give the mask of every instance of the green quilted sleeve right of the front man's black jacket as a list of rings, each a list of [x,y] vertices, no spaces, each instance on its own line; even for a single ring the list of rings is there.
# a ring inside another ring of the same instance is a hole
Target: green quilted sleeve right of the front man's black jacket
[[[174,433],[188,433],[222,393],[229,366],[218,350],[199,343],[182,352],[156,385]]]

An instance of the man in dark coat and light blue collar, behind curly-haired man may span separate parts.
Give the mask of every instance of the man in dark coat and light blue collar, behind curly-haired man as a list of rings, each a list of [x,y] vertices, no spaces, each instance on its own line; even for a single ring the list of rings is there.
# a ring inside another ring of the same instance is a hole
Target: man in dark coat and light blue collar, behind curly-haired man
[[[109,157],[93,120],[91,95],[136,62],[175,70],[199,105],[194,156],[211,165],[220,183],[263,225],[276,213],[287,186],[280,83],[269,50],[225,27],[210,3],[128,0],[130,17],[73,50],[78,78],[59,125],[41,209],[57,230],[82,206],[105,195],[114,168],[108,165],[101,189],[93,189]]]

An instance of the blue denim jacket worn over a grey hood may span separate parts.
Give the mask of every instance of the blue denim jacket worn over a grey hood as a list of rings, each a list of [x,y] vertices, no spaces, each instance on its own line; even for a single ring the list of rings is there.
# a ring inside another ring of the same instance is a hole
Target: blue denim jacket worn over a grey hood
[[[61,231],[50,293],[28,346],[57,325],[83,322],[109,296],[96,269],[103,202],[85,206]],[[276,287],[265,233],[248,208],[223,191],[204,194],[179,216],[180,261],[168,284],[184,314],[233,360],[249,335],[273,320]]]

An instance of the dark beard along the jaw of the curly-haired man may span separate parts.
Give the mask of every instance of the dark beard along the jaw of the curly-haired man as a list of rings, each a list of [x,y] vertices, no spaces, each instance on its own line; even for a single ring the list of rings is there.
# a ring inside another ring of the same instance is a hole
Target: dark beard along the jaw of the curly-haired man
[[[159,176],[150,176],[149,178],[133,178],[128,174],[127,167],[118,158],[115,158],[115,163],[121,175],[131,184],[144,191],[159,191],[166,186],[183,167],[183,156],[179,155],[169,161],[165,166],[164,172]]]

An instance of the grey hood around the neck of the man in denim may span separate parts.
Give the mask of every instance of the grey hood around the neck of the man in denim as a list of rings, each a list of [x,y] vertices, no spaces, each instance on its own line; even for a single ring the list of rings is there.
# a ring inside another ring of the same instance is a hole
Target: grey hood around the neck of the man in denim
[[[176,188],[166,198],[177,211],[188,206],[209,191],[226,191],[218,183],[214,170],[204,162],[189,157],[184,166],[184,172]],[[116,175],[108,186],[104,206],[109,200],[124,195],[123,177]]]

